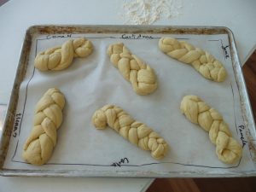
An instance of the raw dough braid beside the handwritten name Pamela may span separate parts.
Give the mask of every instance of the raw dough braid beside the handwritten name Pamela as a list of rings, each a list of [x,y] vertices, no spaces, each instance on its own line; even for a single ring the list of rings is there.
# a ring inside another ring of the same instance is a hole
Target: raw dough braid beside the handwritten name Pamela
[[[199,124],[216,145],[218,159],[232,164],[241,157],[241,144],[231,137],[229,125],[221,114],[210,108],[198,96],[184,96],[180,106],[182,113],[194,124]]]

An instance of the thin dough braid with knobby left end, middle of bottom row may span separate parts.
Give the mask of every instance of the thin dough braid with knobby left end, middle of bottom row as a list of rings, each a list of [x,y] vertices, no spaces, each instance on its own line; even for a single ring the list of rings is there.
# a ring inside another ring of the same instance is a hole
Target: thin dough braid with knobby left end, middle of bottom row
[[[104,106],[93,114],[92,121],[97,129],[105,129],[107,125],[110,126],[130,143],[151,151],[152,157],[156,160],[162,159],[168,151],[168,144],[162,137],[147,125],[132,119],[119,107]]]

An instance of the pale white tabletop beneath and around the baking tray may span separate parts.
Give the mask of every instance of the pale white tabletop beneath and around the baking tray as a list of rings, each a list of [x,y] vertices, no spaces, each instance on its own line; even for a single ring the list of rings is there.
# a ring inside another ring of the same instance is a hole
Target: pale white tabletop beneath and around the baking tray
[[[256,45],[256,1],[181,0],[180,15],[163,26],[227,26],[234,33],[241,63]],[[11,0],[0,7],[0,104],[9,101],[26,29],[39,24],[123,25],[119,0]],[[1,128],[1,127],[0,127]],[[150,178],[0,177],[0,191],[143,191]]]

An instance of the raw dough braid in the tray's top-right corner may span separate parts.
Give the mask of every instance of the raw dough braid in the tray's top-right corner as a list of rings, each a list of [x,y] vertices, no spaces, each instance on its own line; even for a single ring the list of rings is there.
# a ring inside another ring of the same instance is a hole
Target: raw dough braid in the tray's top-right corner
[[[191,64],[207,79],[222,82],[227,76],[223,64],[207,51],[195,48],[192,44],[176,38],[160,38],[159,47],[172,58]]]

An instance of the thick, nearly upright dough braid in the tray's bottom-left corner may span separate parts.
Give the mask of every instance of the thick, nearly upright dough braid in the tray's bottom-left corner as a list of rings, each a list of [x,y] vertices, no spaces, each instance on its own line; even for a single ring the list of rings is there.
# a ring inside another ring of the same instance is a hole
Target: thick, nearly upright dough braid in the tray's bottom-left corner
[[[57,129],[61,126],[65,98],[55,88],[44,93],[36,106],[33,128],[23,148],[23,159],[33,165],[45,164],[55,147]]]

